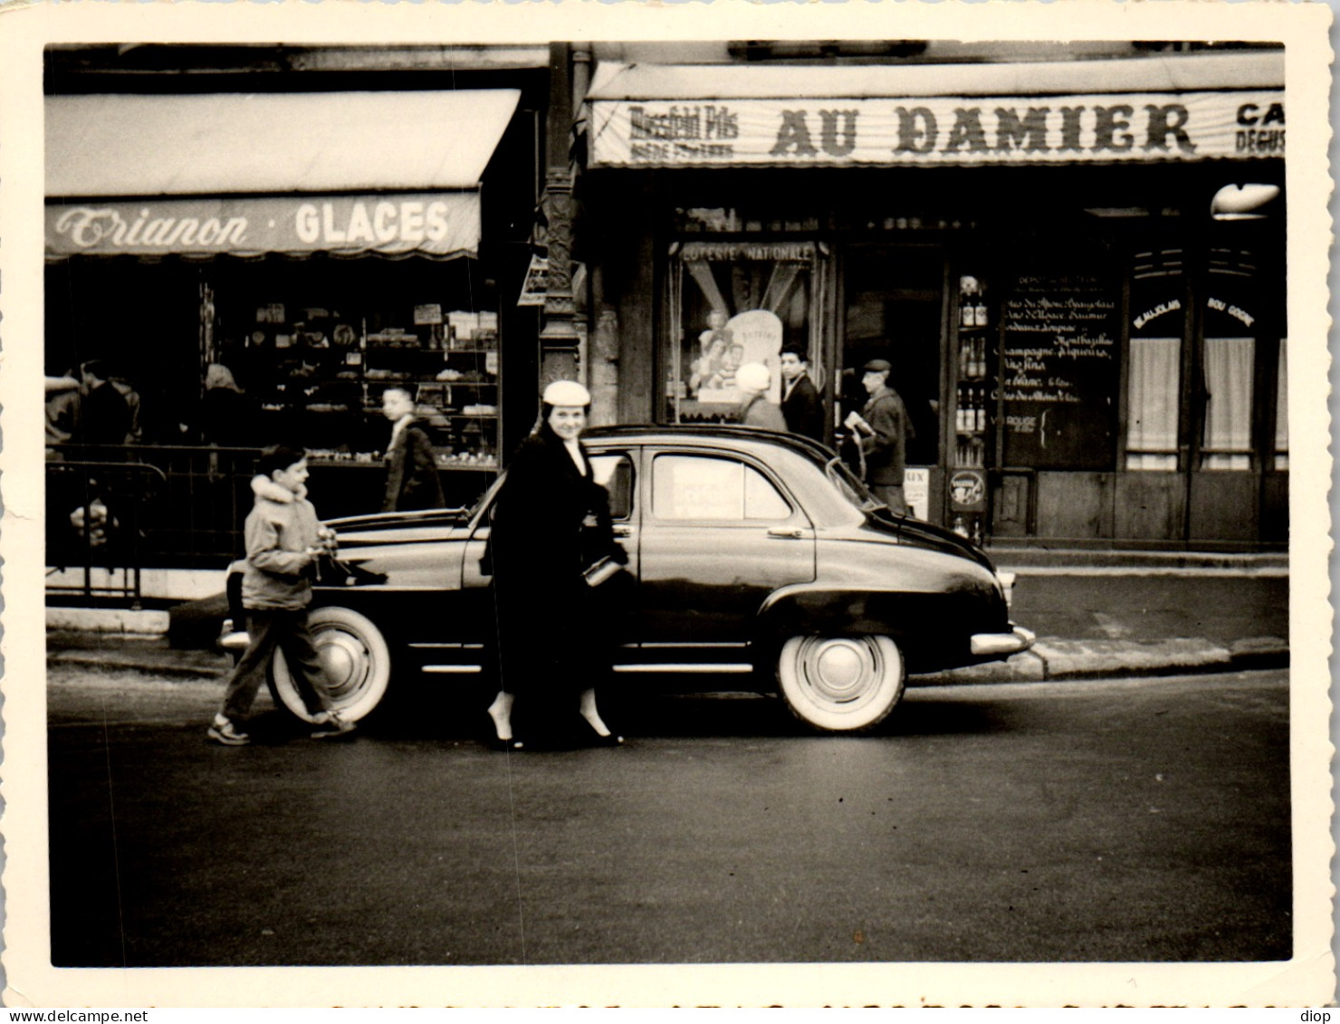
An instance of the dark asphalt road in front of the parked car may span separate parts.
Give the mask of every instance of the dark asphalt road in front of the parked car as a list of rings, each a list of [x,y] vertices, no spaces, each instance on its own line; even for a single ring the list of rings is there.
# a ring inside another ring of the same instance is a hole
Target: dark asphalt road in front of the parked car
[[[58,966],[1290,956],[1288,676],[910,690],[868,737],[611,701],[494,753],[444,702],[314,741],[52,670]]]

